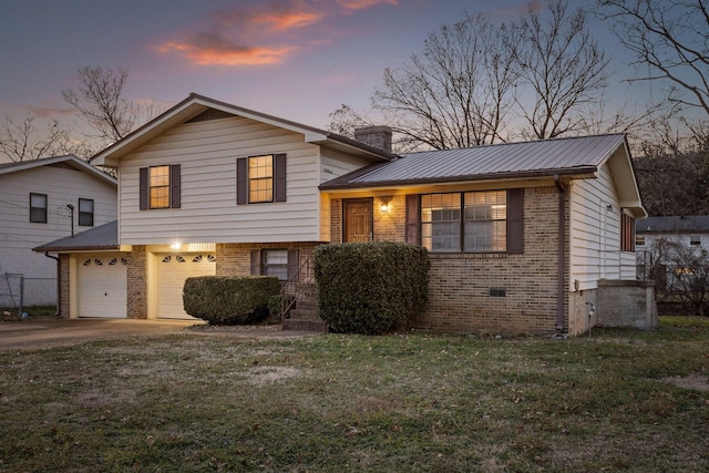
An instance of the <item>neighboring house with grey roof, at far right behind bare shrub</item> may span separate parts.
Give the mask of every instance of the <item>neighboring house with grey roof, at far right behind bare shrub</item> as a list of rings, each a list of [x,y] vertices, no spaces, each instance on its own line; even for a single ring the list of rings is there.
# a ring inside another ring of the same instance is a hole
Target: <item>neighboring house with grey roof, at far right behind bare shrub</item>
[[[638,275],[655,278],[658,289],[665,289],[671,271],[671,255],[662,241],[692,248],[695,251],[709,250],[709,215],[648,217],[636,223],[635,248],[638,264]],[[655,268],[661,265],[664,271]]]

